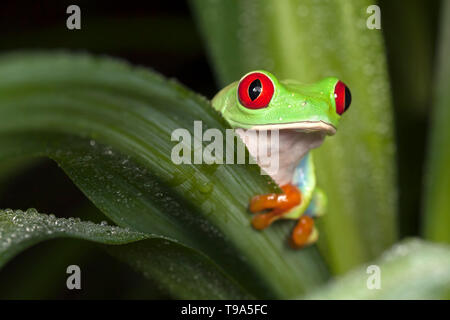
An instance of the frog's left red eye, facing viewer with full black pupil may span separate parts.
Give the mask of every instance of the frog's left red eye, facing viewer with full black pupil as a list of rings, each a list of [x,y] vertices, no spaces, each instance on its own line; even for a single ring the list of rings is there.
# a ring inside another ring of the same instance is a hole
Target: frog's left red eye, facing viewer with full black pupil
[[[250,73],[239,82],[239,102],[248,109],[267,107],[272,99],[273,92],[273,82],[264,73]]]

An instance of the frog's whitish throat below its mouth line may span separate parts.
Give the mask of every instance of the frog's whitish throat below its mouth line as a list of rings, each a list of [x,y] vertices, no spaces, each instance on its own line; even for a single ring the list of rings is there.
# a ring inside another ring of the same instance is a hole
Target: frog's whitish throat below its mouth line
[[[262,139],[259,130],[236,129],[236,133],[244,141],[250,155],[256,159],[258,165],[279,186],[292,182],[295,168],[299,165],[302,158],[311,149],[319,147],[326,136],[326,133],[321,131],[301,132],[295,129],[282,129],[278,130],[278,143],[274,144],[270,143],[270,139],[273,136],[272,130],[267,130],[267,134],[263,135]],[[267,139],[264,139],[265,137]],[[264,143],[264,141],[269,141],[269,143]],[[278,158],[277,170],[274,171],[273,166],[267,161],[261,161],[261,153],[258,154],[258,145],[260,148],[261,146],[266,148],[267,156],[272,159],[274,157]],[[277,154],[278,157],[276,157]]]

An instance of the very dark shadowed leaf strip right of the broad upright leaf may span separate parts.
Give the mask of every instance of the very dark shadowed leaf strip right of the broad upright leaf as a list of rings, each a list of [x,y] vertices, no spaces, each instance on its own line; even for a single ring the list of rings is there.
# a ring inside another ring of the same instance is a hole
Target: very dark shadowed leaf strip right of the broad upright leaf
[[[400,238],[417,235],[432,108],[439,1],[379,0],[395,118]],[[412,67],[414,66],[414,67]],[[412,94],[413,93],[413,94]]]

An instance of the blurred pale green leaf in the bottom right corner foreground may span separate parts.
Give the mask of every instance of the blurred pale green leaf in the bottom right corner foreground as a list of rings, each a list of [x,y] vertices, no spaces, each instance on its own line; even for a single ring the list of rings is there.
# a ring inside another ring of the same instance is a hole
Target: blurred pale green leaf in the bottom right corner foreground
[[[379,267],[380,289],[369,289],[375,276],[369,265],[338,278],[308,299],[448,299],[450,247],[409,239],[396,244],[370,265]],[[369,270],[369,271],[368,271]]]

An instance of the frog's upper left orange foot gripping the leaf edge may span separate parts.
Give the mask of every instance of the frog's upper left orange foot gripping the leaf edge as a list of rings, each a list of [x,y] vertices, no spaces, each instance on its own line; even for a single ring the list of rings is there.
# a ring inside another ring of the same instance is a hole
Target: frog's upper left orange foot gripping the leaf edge
[[[250,211],[253,213],[271,210],[253,217],[252,225],[255,229],[267,228],[272,222],[281,218],[284,213],[300,204],[302,194],[296,186],[286,184],[281,187],[281,190],[283,190],[281,194],[269,193],[255,196],[250,200]]]

